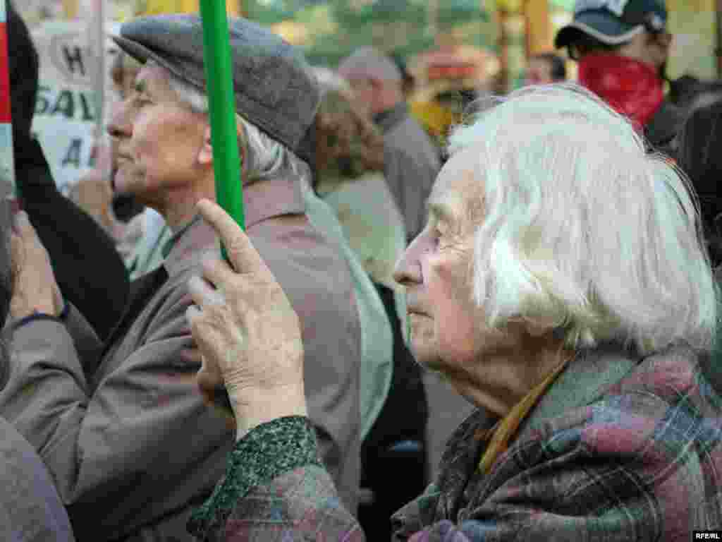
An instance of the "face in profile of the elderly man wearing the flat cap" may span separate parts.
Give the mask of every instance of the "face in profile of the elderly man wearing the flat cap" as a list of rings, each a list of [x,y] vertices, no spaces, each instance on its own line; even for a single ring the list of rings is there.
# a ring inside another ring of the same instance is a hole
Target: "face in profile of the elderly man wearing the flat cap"
[[[116,192],[154,206],[165,192],[191,186],[207,119],[194,113],[170,87],[169,72],[148,63],[134,87],[113,108],[108,132],[116,155]]]

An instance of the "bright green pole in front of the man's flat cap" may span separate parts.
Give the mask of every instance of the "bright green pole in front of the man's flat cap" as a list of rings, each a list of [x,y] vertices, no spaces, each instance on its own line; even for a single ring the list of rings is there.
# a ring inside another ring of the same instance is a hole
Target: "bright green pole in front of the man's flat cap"
[[[235,95],[225,0],[201,0],[201,20],[216,201],[245,231],[243,182],[240,178]],[[221,254],[228,259],[224,246],[221,247]]]

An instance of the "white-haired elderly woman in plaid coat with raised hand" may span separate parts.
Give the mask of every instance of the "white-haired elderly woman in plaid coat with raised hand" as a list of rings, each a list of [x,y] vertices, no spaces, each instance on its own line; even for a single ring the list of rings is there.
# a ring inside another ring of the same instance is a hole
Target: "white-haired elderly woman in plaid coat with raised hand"
[[[716,288],[683,174],[564,85],[499,100],[451,151],[395,278],[417,361],[478,409],[438,478],[394,515],[393,540],[677,541],[722,528],[722,398],[699,369]],[[297,317],[232,220],[199,207],[232,267],[204,267],[188,318],[238,442],[193,533],[362,540],[305,418]]]

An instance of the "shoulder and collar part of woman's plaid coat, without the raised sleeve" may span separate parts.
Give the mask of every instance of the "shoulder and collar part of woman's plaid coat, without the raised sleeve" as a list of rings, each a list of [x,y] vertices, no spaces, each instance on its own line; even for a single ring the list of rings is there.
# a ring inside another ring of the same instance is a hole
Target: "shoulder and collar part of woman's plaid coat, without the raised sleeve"
[[[580,353],[488,475],[476,467],[495,419],[477,410],[459,426],[438,479],[393,515],[394,540],[421,532],[414,542],[437,542],[456,530],[471,542],[566,540],[581,531],[600,540],[646,540],[641,532],[673,540],[688,536],[690,525],[718,525],[722,512],[710,499],[722,481],[705,488],[700,480],[722,468],[721,406],[690,348],[643,360],[613,347]],[[694,447],[705,450],[701,460],[689,455]],[[672,489],[650,474],[657,471]],[[628,501],[608,502],[615,484],[630,493]],[[679,500],[676,491],[687,497]],[[617,519],[605,523],[604,513]],[[469,538],[477,530],[479,537]]]

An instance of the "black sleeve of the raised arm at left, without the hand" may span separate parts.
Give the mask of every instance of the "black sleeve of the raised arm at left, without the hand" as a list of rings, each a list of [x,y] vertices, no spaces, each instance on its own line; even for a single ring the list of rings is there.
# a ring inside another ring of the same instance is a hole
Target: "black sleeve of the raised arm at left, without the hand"
[[[115,241],[58,191],[37,141],[16,144],[14,150],[19,202],[48,249],[58,286],[105,339],[121,317],[129,291]]]

